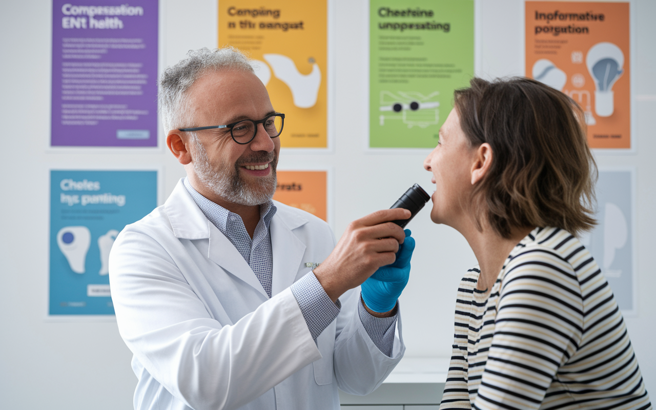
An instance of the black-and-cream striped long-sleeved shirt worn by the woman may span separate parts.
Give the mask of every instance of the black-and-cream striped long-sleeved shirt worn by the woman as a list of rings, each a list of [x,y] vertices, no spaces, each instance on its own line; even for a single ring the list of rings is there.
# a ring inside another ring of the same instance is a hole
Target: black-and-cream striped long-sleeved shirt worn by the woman
[[[608,282],[558,228],[536,228],[489,291],[458,289],[440,409],[651,409]]]

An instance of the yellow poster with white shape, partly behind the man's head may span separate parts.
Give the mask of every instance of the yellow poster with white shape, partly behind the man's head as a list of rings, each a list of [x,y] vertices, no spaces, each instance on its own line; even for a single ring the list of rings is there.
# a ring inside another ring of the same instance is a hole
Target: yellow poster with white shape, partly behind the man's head
[[[218,45],[250,54],[284,148],[327,148],[327,0],[218,1]]]

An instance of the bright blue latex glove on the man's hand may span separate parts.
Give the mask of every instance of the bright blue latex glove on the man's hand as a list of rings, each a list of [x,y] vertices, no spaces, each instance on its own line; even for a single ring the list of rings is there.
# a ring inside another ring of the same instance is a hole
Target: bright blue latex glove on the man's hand
[[[362,299],[367,308],[374,312],[389,312],[396,306],[403,288],[410,277],[410,259],[415,250],[415,238],[409,229],[405,230],[405,241],[396,253],[396,261],[391,265],[381,266],[361,285]]]

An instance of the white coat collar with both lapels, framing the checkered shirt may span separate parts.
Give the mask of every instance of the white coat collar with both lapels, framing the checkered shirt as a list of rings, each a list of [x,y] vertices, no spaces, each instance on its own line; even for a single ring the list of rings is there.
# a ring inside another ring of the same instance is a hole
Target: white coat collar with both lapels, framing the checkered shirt
[[[294,283],[306,245],[292,231],[308,222],[295,209],[274,202],[277,212],[270,225],[274,253],[272,296]],[[232,245],[230,239],[203,215],[203,211],[196,205],[192,195],[184,188],[182,179],[178,181],[171,196],[164,203],[164,208],[175,237],[190,240],[209,239],[207,257],[268,298],[249,264]]]

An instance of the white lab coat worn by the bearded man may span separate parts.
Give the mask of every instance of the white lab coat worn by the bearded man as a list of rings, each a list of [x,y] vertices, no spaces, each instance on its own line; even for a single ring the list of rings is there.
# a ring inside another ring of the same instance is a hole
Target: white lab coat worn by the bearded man
[[[182,181],[119,234],[110,284],[134,354],[135,409],[339,409],[337,388],[368,394],[400,361],[400,318],[388,358],[359,319],[359,289],[340,297],[340,314],[315,344],[289,286],[335,239],[319,218],[276,207],[272,298]]]

